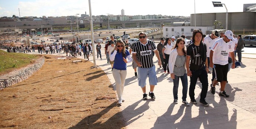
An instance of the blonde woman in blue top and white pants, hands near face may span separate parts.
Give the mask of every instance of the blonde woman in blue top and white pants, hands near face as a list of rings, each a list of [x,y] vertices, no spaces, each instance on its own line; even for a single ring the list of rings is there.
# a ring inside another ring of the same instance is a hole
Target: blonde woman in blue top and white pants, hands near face
[[[116,93],[118,96],[118,104],[122,104],[124,99],[122,98],[122,94],[124,91],[124,83],[127,75],[127,63],[132,62],[132,58],[127,49],[125,49],[125,44],[122,40],[118,40],[115,43],[115,47],[111,52],[109,57],[110,61],[114,61],[113,66],[113,77],[116,82]]]

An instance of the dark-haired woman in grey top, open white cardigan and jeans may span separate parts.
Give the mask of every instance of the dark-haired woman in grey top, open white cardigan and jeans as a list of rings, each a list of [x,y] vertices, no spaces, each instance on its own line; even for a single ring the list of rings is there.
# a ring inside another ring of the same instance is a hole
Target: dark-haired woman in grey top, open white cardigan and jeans
[[[179,80],[181,79],[182,83],[182,102],[189,106],[187,102],[187,90],[188,90],[188,79],[187,79],[187,71],[186,71],[186,49],[185,49],[185,41],[183,38],[178,38],[174,49],[170,53],[169,57],[169,70],[171,74],[171,78],[173,79],[173,97],[174,104],[178,104],[178,86]]]

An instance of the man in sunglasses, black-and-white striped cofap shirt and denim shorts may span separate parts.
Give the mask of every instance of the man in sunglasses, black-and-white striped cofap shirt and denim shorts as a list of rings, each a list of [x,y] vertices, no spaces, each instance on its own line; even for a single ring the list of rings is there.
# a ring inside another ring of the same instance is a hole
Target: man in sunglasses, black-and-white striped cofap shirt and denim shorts
[[[148,40],[145,32],[140,32],[139,38],[140,40],[133,43],[131,46],[132,57],[138,65],[138,84],[143,92],[143,100],[146,100],[146,79],[148,77],[150,82],[149,96],[152,99],[155,99],[153,91],[155,85],[157,85],[157,73],[155,71],[152,52],[154,51],[157,56],[158,65],[160,66],[161,59],[157,51],[157,47],[155,46],[155,42]]]

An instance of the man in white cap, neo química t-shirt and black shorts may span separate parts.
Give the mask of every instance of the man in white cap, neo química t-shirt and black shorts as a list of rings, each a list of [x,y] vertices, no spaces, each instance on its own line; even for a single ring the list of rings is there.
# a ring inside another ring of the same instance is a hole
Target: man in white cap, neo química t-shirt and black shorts
[[[234,62],[234,40],[233,32],[228,30],[225,32],[224,37],[218,39],[211,46],[210,51],[210,67],[215,68],[216,77],[211,84],[211,93],[215,94],[215,85],[220,82],[220,96],[229,97],[225,91],[225,86],[227,83],[227,72],[229,68],[228,58],[229,53],[231,55],[232,61]],[[232,64],[232,69],[234,69],[235,64]]]

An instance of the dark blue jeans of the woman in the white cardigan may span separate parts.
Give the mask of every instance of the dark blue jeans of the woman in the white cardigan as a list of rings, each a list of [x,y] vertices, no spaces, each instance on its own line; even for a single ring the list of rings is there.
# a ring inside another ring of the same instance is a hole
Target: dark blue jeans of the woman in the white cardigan
[[[173,97],[174,99],[178,99],[178,87],[179,81],[181,80],[182,83],[182,101],[187,101],[187,91],[188,91],[188,77],[185,73],[183,76],[176,76],[173,79]]]

